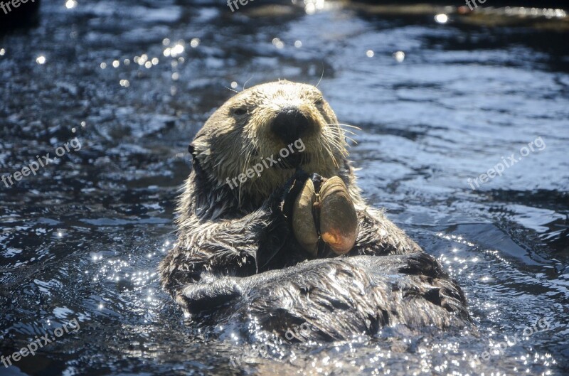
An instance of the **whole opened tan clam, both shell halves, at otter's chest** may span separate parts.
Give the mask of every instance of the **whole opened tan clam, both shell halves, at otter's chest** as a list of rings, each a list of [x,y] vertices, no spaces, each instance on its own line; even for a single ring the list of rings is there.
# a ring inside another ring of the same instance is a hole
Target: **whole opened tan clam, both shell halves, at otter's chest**
[[[358,217],[341,178],[314,176],[304,182],[292,205],[292,232],[314,257],[319,242],[335,254],[350,251],[358,236]]]

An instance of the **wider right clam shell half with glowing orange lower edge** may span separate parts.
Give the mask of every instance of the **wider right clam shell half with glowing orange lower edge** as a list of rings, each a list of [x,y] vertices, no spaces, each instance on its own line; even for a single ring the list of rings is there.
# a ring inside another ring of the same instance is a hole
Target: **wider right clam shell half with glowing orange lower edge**
[[[320,188],[320,235],[336,254],[352,249],[358,236],[358,215],[344,181],[329,178]]]

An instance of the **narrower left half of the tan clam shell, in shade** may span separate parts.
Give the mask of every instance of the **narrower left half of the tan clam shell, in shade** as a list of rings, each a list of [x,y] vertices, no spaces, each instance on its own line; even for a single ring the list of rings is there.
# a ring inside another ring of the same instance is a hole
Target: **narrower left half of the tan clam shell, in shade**
[[[292,207],[292,232],[300,245],[314,257],[316,257],[318,250],[318,232],[316,225],[314,225],[314,215],[312,215],[315,201],[314,184],[312,180],[308,179],[304,183],[302,192],[294,200]]]

